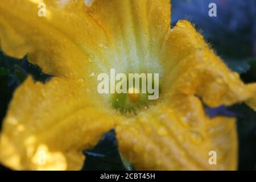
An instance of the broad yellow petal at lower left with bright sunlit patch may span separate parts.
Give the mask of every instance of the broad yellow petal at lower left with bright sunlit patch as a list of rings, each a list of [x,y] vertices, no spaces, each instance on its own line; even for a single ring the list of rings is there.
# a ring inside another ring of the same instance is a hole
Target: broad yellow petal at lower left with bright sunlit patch
[[[3,123],[0,162],[12,169],[80,169],[82,150],[117,119],[103,104],[80,80],[54,77],[44,85],[28,77]]]

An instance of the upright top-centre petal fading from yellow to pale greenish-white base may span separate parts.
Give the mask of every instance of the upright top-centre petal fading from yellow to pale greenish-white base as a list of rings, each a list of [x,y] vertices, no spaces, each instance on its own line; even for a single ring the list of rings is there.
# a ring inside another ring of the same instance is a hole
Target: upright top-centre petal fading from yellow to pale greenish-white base
[[[106,59],[112,68],[126,68],[127,72],[143,72],[141,69],[146,68],[150,72],[154,65],[159,66],[159,52],[170,29],[169,0],[92,2],[86,11],[108,34],[113,55],[106,55]]]

